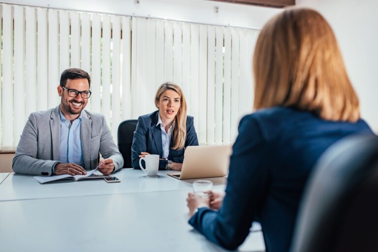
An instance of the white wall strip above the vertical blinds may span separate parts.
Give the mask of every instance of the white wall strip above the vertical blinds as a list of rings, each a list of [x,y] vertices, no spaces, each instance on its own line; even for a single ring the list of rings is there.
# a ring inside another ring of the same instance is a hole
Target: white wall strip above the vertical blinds
[[[243,28],[262,28],[281,9],[209,0],[5,0],[3,2],[59,9],[154,17]],[[214,6],[219,7],[215,13]]]

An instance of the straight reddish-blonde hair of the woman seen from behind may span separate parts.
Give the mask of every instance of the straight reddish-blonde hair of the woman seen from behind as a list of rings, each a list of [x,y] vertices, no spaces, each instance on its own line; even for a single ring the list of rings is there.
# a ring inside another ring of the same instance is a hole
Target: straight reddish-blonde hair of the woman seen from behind
[[[336,37],[315,10],[284,10],[261,30],[253,56],[254,109],[296,107],[326,120],[360,118]]]

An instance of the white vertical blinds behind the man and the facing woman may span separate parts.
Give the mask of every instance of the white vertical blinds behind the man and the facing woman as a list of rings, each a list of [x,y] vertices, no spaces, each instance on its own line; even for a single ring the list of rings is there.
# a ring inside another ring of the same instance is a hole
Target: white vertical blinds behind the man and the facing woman
[[[60,103],[64,69],[92,78],[86,109],[114,140],[125,119],[156,110],[164,82],[179,84],[200,144],[232,143],[252,112],[258,30],[0,4],[0,141],[15,149],[31,112]]]

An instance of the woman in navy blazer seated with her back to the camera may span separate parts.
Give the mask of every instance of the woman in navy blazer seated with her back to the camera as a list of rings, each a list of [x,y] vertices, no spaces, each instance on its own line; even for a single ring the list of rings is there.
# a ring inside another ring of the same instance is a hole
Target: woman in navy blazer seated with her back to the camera
[[[235,249],[258,220],[266,251],[287,252],[317,159],[348,135],[373,133],[360,119],[335,35],[316,11],[286,9],[271,19],[259,34],[253,71],[256,112],[240,121],[225,196],[189,194],[189,224]]]

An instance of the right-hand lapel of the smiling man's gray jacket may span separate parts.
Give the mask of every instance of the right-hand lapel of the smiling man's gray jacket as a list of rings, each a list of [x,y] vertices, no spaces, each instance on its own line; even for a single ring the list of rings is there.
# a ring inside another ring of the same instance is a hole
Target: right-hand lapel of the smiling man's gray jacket
[[[91,134],[92,134],[92,119],[91,117],[83,110],[81,116],[81,127],[80,127],[80,140],[81,140],[81,149],[84,159],[85,169],[94,169],[91,167]]]

